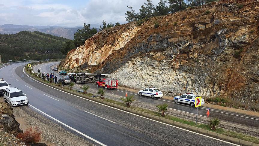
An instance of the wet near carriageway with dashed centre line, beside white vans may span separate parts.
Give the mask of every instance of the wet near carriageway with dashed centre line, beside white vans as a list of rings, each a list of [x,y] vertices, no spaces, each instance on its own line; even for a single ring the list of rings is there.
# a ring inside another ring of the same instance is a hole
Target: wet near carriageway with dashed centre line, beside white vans
[[[0,78],[26,93],[30,108],[67,127],[67,130],[91,139],[93,143],[127,146],[233,145],[53,89],[29,78],[23,68],[24,63],[1,68]]]

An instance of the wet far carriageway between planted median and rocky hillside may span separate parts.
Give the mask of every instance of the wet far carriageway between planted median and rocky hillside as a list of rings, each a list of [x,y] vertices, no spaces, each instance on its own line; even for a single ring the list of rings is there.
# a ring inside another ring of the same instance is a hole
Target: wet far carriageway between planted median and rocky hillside
[[[40,71],[46,73],[55,73],[58,78],[61,78],[64,75],[59,75],[59,71],[52,71],[52,66],[57,65],[59,62],[49,62],[49,63],[43,63],[40,65],[37,65],[33,68],[34,71],[37,71],[37,69],[40,69]],[[79,84],[82,85],[82,84]],[[96,85],[89,84],[90,88],[97,88]],[[196,115],[196,108],[191,107],[187,104],[182,104],[178,103],[176,104],[174,101],[167,100],[167,99],[151,99],[150,97],[147,96],[138,96],[137,93],[132,93],[129,91],[124,91],[124,90],[106,90],[107,93],[117,95],[117,96],[125,96],[125,92],[128,93],[128,96],[133,95],[134,99],[140,102],[147,102],[151,103],[153,105],[158,105],[158,104],[163,104],[163,103],[168,103],[168,108],[174,109],[174,110],[180,110],[188,113],[192,113]],[[205,101],[206,102],[206,101]],[[198,115],[200,116],[207,116],[207,108],[202,107],[199,108],[198,110]],[[255,126],[259,127],[259,118],[258,117],[252,117],[252,116],[247,116],[247,115],[242,115],[242,114],[237,114],[233,112],[228,112],[228,111],[221,111],[221,110],[216,110],[216,109],[210,109],[210,117],[218,117],[220,120],[225,120],[225,121],[230,121],[231,123],[239,123],[239,124],[244,124],[244,125],[249,125],[249,126]]]

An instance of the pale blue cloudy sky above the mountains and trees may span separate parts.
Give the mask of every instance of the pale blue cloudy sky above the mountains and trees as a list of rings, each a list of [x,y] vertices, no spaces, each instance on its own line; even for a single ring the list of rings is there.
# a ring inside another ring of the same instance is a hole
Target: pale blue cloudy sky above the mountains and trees
[[[146,0],[0,0],[0,25],[82,26],[127,23],[127,6],[138,12]],[[159,0],[153,0],[157,5]]]

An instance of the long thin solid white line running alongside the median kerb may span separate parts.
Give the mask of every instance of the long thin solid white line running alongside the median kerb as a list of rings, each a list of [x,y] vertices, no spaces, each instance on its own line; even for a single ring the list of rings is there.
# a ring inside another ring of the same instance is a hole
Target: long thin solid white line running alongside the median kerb
[[[25,69],[25,68],[23,68],[23,73],[24,73],[26,76],[28,76],[29,78],[31,78],[29,75],[27,75],[27,74],[25,73],[24,69]],[[34,80],[34,81],[36,81],[36,82],[38,82],[38,83],[40,83],[40,84],[43,84],[43,83],[41,83],[40,81],[35,80],[34,78],[31,78],[31,79]],[[49,86],[49,85],[46,85],[46,84],[43,84],[43,85],[48,86],[48,87],[50,87],[50,88],[53,88],[53,89],[55,89],[55,90],[64,92],[64,91],[62,91],[62,90],[56,89],[56,88],[54,88],[54,87],[51,87],[51,86]],[[67,93],[67,92],[64,92],[64,93]],[[70,94],[70,93],[67,93],[67,94]],[[76,96],[76,95],[73,95],[73,94],[70,94],[70,95]],[[80,97],[80,96],[76,96],[76,97],[79,97],[79,98],[81,98],[81,99],[85,99],[85,98]],[[119,110],[119,111],[123,111],[123,112],[125,112],[125,113],[132,114],[132,115],[135,115],[135,116],[138,116],[138,117],[142,117],[142,118],[145,118],[145,119],[148,119],[148,120],[152,120],[152,121],[157,122],[157,123],[165,124],[165,125],[168,125],[168,126],[177,128],[177,129],[181,129],[181,130],[184,130],[184,131],[188,131],[188,132],[191,132],[191,133],[195,133],[195,134],[198,134],[198,135],[202,135],[202,136],[205,136],[205,137],[214,139],[214,140],[218,140],[218,141],[222,141],[222,142],[225,142],[225,143],[228,143],[228,144],[233,144],[233,145],[236,145],[236,146],[240,146],[240,145],[238,145],[238,144],[234,144],[234,143],[231,143],[231,142],[228,142],[228,141],[224,141],[224,140],[221,140],[221,139],[217,139],[217,138],[214,138],[214,137],[210,137],[210,136],[207,136],[207,135],[203,135],[203,134],[201,134],[201,133],[196,133],[196,132],[193,132],[193,131],[190,131],[190,130],[187,130],[187,129],[183,129],[183,128],[180,128],[180,127],[177,127],[177,126],[173,126],[173,125],[170,125],[170,124],[167,124],[167,123],[159,122],[159,121],[156,121],[156,120],[153,120],[153,119],[150,119],[150,118],[147,118],[147,117],[143,117],[143,116],[140,116],[140,115],[137,115],[137,114],[133,114],[133,113],[130,113],[130,112],[128,112],[128,111],[124,111],[124,110],[121,110],[121,109],[118,109],[118,108],[111,107],[111,106],[109,106],[109,105],[105,105],[105,104],[103,104],[103,103],[99,103],[99,102],[92,101],[92,100],[90,100],[90,99],[85,99],[85,100],[88,100],[88,101],[91,101],[91,102],[94,102],[94,103],[97,103],[97,104],[100,104],[100,105],[104,105],[104,106],[106,106],[106,107],[110,107],[110,108],[113,108],[113,109],[116,109],[116,110]]]

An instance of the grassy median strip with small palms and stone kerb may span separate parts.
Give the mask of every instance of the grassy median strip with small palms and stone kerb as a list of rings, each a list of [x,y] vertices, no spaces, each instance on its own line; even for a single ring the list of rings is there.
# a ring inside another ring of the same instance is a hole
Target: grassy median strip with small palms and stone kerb
[[[231,141],[231,142],[234,142],[237,144],[242,144],[242,145],[259,146],[259,138],[255,138],[255,137],[244,135],[244,134],[237,133],[237,132],[228,131],[228,130],[221,129],[221,128],[217,128],[216,131],[214,132],[214,131],[210,130],[210,127],[208,125],[205,125],[205,124],[198,124],[196,126],[195,122],[180,119],[180,118],[177,118],[177,117],[174,117],[171,115],[166,115],[165,117],[160,117],[159,112],[150,111],[150,110],[147,110],[144,108],[133,107],[133,106],[131,106],[130,108],[127,108],[126,105],[122,102],[118,102],[118,101],[115,101],[112,99],[107,99],[107,98],[105,98],[103,100],[98,99],[98,98],[92,98],[90,96],[84,95],[83,93],[77,93],[76,91],[69,90],[68,88],[57,87],[57,86],[55,86],[55,84],[53,85],[53,84],[47,83],[45,81],[42,81],[41,79],[33,77],[30,73],[28,73],[28,71],[26,71],[26,72],[32,78],[36,79],[37,81],[40,81],[43,84],[46,84],[52,88],[56,88],[58,90],[67,92],[69,94],[78,96],[80,98],[85,98],[85,99],[88,99],[88,100],[91,100],[94,102],[99,102],[104,105],[109,105],[111,107],[118,108],[120,110],[128,111],[130,113],[138,114],[138,115],[141,115],[144,117],[148,117],[148,118],[154,119],[156,121],[162,121],[163,123],[175,125],[175,126],[183,128],[183,129],[188,129],[190,131],[195,131],[195,132],[202,133],[205,135],[210,135],[217,139],[222,139],[225,142]],[[236,139],[239,139],[239,141],[237,142]]]

